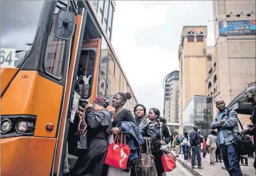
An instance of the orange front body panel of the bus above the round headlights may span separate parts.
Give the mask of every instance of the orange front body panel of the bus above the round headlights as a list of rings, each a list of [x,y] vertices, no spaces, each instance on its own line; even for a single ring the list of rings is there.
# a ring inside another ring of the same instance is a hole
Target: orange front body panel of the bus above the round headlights
[[[37,71],[20,70],[1,98],[1,115],[35,115],[34,136],[54,138],[62,94],[63,86],[43,78]],[[47,123],[54,124],[52,131],[46,130]]]

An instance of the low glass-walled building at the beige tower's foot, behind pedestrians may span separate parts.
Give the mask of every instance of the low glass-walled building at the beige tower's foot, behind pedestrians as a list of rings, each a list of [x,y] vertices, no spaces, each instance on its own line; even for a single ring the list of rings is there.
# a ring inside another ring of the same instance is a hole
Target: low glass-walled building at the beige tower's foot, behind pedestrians
[[[212,108],[211,97],[195,95],[183,110],[183,132],[192,132],[196,125],[206,138],[211,133]]]

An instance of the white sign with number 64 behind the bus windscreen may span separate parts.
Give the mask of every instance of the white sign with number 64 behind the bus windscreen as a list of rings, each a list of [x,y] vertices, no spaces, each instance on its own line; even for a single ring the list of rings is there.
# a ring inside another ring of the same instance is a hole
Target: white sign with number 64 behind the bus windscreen
[[[1,48],[1,67],[12,68],[15,62],[16,49]]]

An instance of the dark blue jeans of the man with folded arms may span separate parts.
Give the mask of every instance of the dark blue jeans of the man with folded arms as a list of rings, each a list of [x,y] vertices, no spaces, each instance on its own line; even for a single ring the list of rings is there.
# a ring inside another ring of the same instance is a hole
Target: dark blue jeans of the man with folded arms
[[[236,151],[234,144],[220,145],[220,152],[224,165],[229,172],[229,176],[242,176],[241,168],[239,165],[240,155]]]

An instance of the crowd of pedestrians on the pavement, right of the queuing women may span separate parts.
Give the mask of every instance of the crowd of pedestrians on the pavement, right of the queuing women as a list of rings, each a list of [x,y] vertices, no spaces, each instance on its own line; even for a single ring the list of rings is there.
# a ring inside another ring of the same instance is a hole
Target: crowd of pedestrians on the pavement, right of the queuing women
[[[237,112],[227,108],[224,100],[217,99],[216,107],[219,111],[210,124],[213,129],[211,134],[204,139],[205,137],[198,131],[198,127],[194,126],[190,134],[184,132],[184,136],[181,139],[176,136],[176,156],[179,156],[179,149],[181,147],[183,149],[184,162],[190,161],[189,155],[192,154],[191,167],[196,168],[197,166],[198,169],[203,169],[202,157],[205,158],[208,151],[210,154],[209,163],[215,165],[215,163],[222,163],[223,161],[226,170],[229,172],[229,176],[242,176],[240,163],[248,166],[248,157],[254,158],[253,166],[256,169],[256,149],[254,149],[254,153],[252,154],[240,155],[241,152],[238,151],[237,141],[234,141],[234,138],[237,140],[237,136],[240,134],[248,135],[254,143],[254,147],[256,147],[256,87],[247,88],[244,97],[248,103],[253,104],[253,110],[252,116],[250,117],[251,123],[247,124],[243,131],[239,131],[238,128],[239,120]]]

